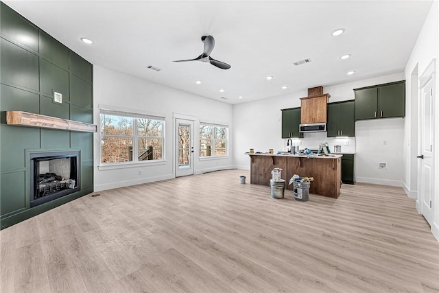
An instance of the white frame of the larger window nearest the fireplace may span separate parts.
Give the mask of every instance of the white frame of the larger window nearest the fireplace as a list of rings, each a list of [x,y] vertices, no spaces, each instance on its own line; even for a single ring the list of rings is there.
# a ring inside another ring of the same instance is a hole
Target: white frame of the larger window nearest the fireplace
[[[103,115],[113,115],[132,119],[132,135],[115,135],[115,134],[104,134],[102,130],[102,117]],[[139,134],[138,130],[138,119],[151,119],[156,121],[161,121],[161,137],[145,137]],[[134,110],[122,111],[122,110],[112,110],[107,108],[99,108],[99,169],[106,169],[107,167],[130,167],[132,165],[161,165],[165,163],[165,128],[166,121],[165,117],[158,115],[150,115],[145,113],[136,113]],[[124,139],[132,139],[132,161],[125,162],[102,162],[102,141],[106,137],[117,137]],[[139,139],[161,139],[161,156],[162,159],[153,160],[141,160],[139,161]]]

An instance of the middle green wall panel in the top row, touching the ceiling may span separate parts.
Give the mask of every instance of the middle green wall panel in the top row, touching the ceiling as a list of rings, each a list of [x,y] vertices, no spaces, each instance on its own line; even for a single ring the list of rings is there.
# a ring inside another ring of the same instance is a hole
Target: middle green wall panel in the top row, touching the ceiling
[[[69,70],[69,48],[45,32],[40,32],[40,55],[59,67]]]

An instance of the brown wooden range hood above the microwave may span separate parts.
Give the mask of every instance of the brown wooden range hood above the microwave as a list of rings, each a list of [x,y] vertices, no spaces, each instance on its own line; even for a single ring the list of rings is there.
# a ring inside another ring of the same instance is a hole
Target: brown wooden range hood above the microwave
[[[323,93],[323,86],[308,89],[308,97],[300,98],[300,124],[326,124],[329,97],[329,93]]]

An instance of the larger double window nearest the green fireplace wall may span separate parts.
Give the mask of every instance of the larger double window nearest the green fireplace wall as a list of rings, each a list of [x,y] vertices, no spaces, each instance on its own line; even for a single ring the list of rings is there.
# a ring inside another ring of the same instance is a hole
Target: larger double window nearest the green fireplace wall
[[[101,163],[163,161],[165,118],[101,110]]]

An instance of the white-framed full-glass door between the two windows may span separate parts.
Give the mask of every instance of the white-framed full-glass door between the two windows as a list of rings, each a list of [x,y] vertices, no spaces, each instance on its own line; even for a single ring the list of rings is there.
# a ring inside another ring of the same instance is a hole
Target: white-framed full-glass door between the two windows
[[[193,175],[193,121],[176,119],[176,177]]]

